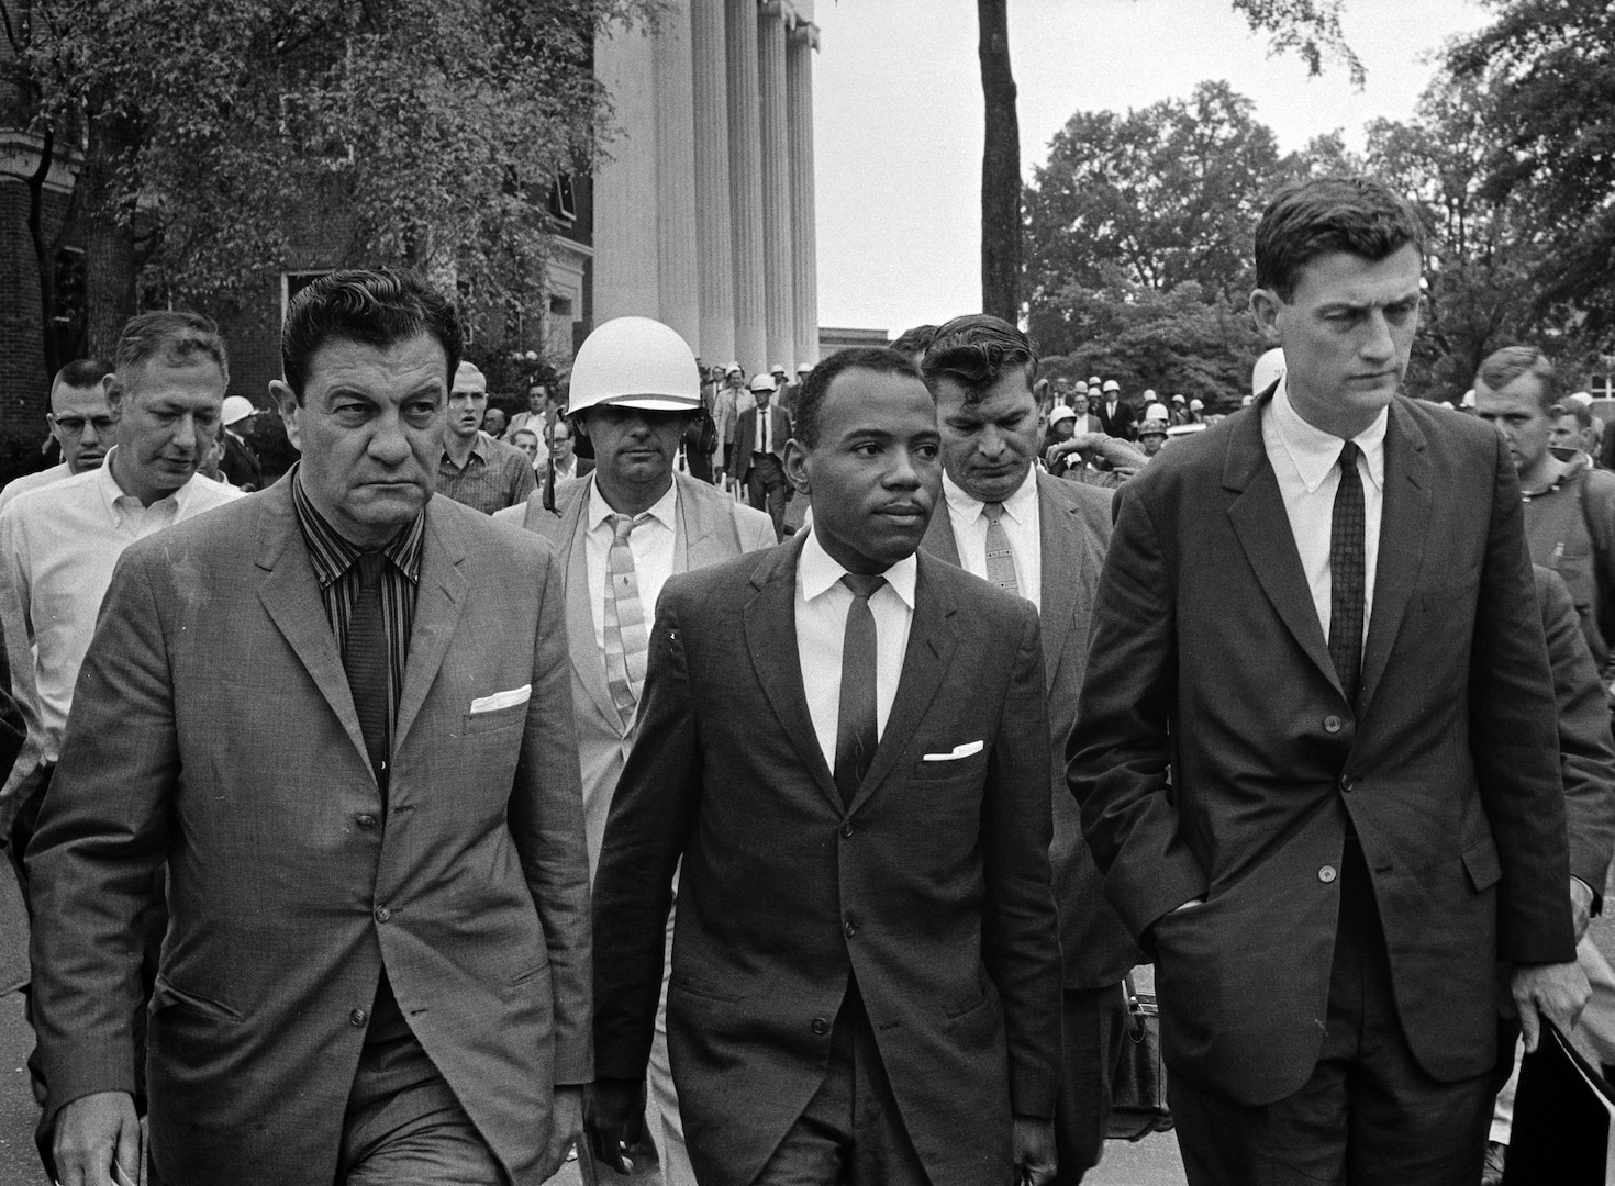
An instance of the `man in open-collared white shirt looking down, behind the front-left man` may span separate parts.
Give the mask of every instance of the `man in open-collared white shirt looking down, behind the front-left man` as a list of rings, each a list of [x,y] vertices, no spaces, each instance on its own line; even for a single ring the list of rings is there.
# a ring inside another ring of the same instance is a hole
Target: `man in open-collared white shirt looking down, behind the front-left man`
[[[142,313],[118,339],[116,368],[107,390],[118,445],[105,465],[27,491],[0,512],[0,621],[27,721],[27,742],[3,791],[16,800],[10,846],[24,900],[21,855],[118,557],[137,539],[241,497],[197,473],[218,439],[229,386],[215,324],[195,313]],[[149,920],[147,976],[162,941],[160,913]]]

